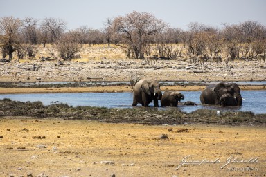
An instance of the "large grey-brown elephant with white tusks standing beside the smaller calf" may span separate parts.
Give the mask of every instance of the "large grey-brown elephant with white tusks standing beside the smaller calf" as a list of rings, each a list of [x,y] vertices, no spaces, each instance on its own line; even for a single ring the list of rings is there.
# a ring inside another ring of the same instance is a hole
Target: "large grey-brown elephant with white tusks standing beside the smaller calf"
[[[157,80],[143,78],[136,82],[133,89],[133,103],[136,106],[140,103],[142,106],[148,107],[153,100],[154,107],[159,107],[158,100],[161,100],[162,93],[160,84]]]

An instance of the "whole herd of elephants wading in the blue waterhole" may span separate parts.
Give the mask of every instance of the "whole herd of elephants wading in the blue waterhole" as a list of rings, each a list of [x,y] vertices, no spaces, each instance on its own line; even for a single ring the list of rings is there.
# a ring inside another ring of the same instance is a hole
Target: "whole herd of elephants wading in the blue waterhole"
[[[153,102],[154,107],[158,107],[158,101],[161,100],[161,106],[177,106],[184,95],[179,91],[161,92],[160,84],[157,80],[141,79],[134,85],[132,106],[141,104],[148,107]],[[220,106],[241,106],[242,96],[240,88],[236,83],[220,82],[215,85],[206,86],[200,97],[202,104],[215,104]]]

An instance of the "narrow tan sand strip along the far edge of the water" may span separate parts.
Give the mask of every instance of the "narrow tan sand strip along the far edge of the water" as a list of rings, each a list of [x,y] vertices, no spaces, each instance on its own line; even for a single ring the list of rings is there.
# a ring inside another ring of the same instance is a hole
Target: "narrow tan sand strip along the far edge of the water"
[[[161,86],[162,91],[202,91],[206,86]],[[266,90],[266,86],[240,86],[243,91],[246,90]],[[89,87],[48,87],[48,88],[0,88],[0,94],[16,94],[16,93],[116,93],[131,92],[131,86],[89,86]]]

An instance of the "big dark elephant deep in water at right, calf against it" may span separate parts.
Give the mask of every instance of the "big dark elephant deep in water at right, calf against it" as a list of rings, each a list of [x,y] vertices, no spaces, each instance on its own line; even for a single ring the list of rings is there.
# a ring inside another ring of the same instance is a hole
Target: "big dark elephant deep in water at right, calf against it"
[[[227,99],[224,99],[226,97]],[[234,106],[242,105],[242,96],[238,84],[220,82],[216,85],[207,86],[200,95],[200,102],[202,102],[202,104],[220,104],[226,106],[227,104],[231,105],[231,102],[234,102],[232,98],[236,99],[236,105]],[[227,100],[230,100],[230,102],[225,102]]]

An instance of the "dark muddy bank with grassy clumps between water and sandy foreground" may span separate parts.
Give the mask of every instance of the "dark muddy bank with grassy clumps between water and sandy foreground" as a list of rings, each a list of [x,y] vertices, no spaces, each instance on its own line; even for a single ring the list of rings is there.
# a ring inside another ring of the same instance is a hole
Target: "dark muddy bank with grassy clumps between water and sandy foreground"
[[[199,109],[184,113],[178,108],[159,110],[157,108],[134,107],[130,109],[108,109],[105,107],[69,106],[42,102],[17,102],[0,100],[0,118],[3,116],[30,116],[34,118],[64,118],[65,120],[97,120],[110,123],[136,124],[231,124],[266,125],[266,114],[253,112],[224,112],[220,116],[215,110]]]

